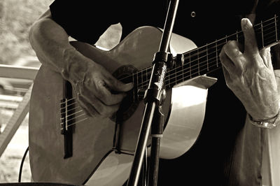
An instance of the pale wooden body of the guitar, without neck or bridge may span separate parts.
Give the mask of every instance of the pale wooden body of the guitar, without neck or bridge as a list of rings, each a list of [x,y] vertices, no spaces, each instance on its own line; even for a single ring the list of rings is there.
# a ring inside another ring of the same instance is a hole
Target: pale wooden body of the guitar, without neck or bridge
[[[72,45],[109,72],[122,73],[127,70],[126,66],[138,70],[151,66],[161,36],[160,29],[140,27],[109,51],[78,41]],[[173,34],[172,52],[181,53],[193,48],[196,46],[192,41]],[[190,80],[190,85],[185,83],[167,90],[163,106],[165,131],[160,150],[162,158],[173,159],[183,155],[200,134],[207,87],[194,85]],[[42,65],[34,80],[29,109],[29,157],[34,181],[81,185],[93,175],[90,180],[96,185],[116,185],[116,179],[120,179],[120,185],[123,184],[133,161],[144,112],[143,101],[139,101],[134,113],[118,125],[118,150],[125,153],[113,151],[116,122],[109,118],[88,117],[73,126],[73,156],[64,159],[64,136],[60,124],[63,87],[60,73]],[[76,96],[74,92],[73,96]],[[74,104],[79,107],[78,103]],[[87,115],[80,117],[83,119]]]

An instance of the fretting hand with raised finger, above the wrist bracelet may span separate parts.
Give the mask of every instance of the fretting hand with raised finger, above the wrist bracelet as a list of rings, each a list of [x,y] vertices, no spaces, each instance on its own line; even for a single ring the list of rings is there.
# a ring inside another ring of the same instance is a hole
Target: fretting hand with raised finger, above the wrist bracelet
[[[254,120],[267,120],[279,112],[279,96],[270,48],[258,50],[250,20],[241,20],[244,46],[229,41],[220,54],[225,81]]]

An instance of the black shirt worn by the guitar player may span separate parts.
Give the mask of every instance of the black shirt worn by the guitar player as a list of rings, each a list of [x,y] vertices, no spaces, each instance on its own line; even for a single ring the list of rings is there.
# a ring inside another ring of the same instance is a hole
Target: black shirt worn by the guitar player
[[[162,0],[56,0],[50,10],[53,20],[70,36],[93,44],[111,24],[118,22],[123,27],[122,38],[145,25],[163,28],[167,6],[167,1]],[[180,1],[173,32],[202,46],[240,30],[242,17],[256,13],[258,22],[278,13],[277,8],[280,6],[275,1]],[[209,88],[200,137],[181,157],[161,159],[158,185],[239,184],[238,173],[231,169],[235,163],[237,136],[244,128],[246,110],[226,86],[222,70],[209,76],[218,78],[218,82]],[[253,172],[248,169],[247,173]],[[260,178],[259,175],[255,177]]]

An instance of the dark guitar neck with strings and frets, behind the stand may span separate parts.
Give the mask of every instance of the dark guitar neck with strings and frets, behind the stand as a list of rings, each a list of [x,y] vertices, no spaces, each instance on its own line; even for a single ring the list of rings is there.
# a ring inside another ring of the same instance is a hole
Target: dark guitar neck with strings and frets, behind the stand
[[[279,17],[274,15],[269,20],[254,25],[255,36],[258,42],[258,48],[267,48],[279,43]],[[236,31],[234,34],[225,36],[212,43],[195,48],[183,53],[184,64],[176,65],[173,69],[169,69],[165,77],[166,88],[172,88],[174,85],[185,80],[195,78],[204,74],[211,73],[221,69],[219,54],[223,45],[230,40],[236,40],[244,43],[244,34],[242,31]],[[175,58],[174,58],[175,59]],[[152,66],[132,74],[135,90],[148,87],[151,76]]]

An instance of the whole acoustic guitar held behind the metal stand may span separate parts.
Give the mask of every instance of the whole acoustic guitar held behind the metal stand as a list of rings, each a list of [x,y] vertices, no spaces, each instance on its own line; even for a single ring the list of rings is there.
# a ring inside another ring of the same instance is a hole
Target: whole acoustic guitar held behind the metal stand
[[[278,16],[255,24],[254,29],[259,48],[279,43]],[[134,83],[114,118],[87,116],[78,105],[70,83],[60,73],[41,66],[34,80],[29,109],[29,158],[34,181],[75,185],[125,183],[144,112],[139,90],[148,87],[153,55],[158,52],[161,36],[161,29],[139,27],[109,51],[79,41],[71,43],[119,80]],[[218,55],[229,40],[243,42],[244,35],[237,31],[197,48],[188,38],[172,34],[169,50],[174,65],[165,78],[161,158],[183,155],[200,135],[207,89],[216,82],[205,75],[221,69]]]

